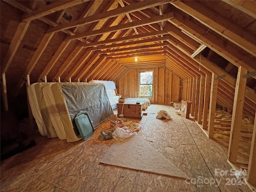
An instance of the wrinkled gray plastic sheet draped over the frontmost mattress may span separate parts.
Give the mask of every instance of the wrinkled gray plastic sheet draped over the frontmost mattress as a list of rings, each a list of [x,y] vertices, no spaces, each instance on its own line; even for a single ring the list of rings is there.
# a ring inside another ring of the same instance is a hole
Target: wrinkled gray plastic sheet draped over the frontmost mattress
[[[103,84],[63,84],[62,93],[65,96],[71,120],[79,112],[87,111],[92,125],[96,128],[114,114]]]

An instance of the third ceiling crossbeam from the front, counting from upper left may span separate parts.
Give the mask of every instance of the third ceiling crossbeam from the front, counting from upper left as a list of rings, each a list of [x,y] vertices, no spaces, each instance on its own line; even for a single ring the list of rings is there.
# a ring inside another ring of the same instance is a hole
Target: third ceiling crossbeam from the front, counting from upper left
[[[111,26],[111,27],[103,28],[103,29],[99,29],[99,30],[94,30],[92,32],[87,32],[87,33],[84,33],[84,34],[77,34],[77,35],[69,36],[69,37],[66,38],[66,40],[74,40],[74,39],[77,39],[77,38],[84,38],[84,37],[88,37],[88,36],[95,36],[95,35],[104,34],[104,33],[108,33],[108,32],[114,32],[114,31],[129,29],[129,28],[132,28],[132,27],[137,27],[137,26],[141,26],[141,25],[148,25],[148,24],[160,22],[160,21],[163,21],[163,20],[169,20],[169,19],[172,19],[172,18],[174,18],[173,13],[168,13],[168,14],[164,14],[164,15],[161,15],[161,16],[148,18],[148,19],[145,19],[145,20],[139,20],[139,21],[132,22],[132,23],[126,23],[126,24]]]

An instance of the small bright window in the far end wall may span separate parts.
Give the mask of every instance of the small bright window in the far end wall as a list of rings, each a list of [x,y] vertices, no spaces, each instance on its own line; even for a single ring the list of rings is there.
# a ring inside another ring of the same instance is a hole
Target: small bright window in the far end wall
[[[153,96],[153,72],[140,72],[140,97]]]

